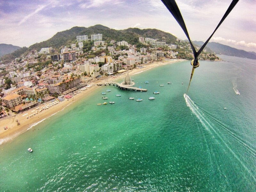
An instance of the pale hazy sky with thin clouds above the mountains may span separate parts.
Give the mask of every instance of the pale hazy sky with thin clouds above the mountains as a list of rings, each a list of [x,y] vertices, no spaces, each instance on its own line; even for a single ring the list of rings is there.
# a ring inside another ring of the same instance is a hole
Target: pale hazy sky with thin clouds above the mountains
[[[206,41],[231,0],[176,0],[176,3],[190,39]],[[256,52],[255,10],[255,0],[240,0],[210,42]],[[116,30],[156,28],[187,39],[161,0],[0,0],[0,44],[28,47],[57,32],[96,24]]]

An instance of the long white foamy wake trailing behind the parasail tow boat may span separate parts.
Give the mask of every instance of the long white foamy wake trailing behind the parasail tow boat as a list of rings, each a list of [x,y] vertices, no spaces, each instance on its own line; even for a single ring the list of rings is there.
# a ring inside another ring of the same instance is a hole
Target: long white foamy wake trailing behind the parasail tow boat
[[[230,151],[230,153],[236,158],[236,160],[244,167],[244,169],[250,174],[250,176],[253,178],[253,180],[256,182],[256,178],[252,174],[252,172],[246,167],[246,165],[243,163],[243,161],[236,155],[236,153],[229,147],[229,145],[226,142],[226,139],[221,136],[221,133],[219,133],[217,130],[214,129],[214,127],[210,124],[210,121],[208,121],[208,118],[211,118],[211,120],[214,120],[217,122],[221,128],[223,128],[226,132],[229,133],[235,140],[239,141],[240,144],[242,144],[244,147],[246,147],[252,154],[256,154],[256,151],[251,148],[248,144],[245,143],[244,140],[242,140],[240,137],[235,135],[235,133],[231,132],[224,124],[222,124],[219,120],[216,118],[210,116],[207,114],[207,112],[201,110],[185,93],[184,98],[186,100],[187,106],[190,108],[191,112],[198,118],[198,120],[201,122],[203,127],[212,134],[213,137],[217,137],[221,143]],[[217,141],[218,142],[218,141]]]

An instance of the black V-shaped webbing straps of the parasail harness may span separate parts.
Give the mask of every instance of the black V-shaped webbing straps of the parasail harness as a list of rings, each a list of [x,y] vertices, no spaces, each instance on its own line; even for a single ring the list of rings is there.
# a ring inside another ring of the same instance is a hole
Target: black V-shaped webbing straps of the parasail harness
[[[190,37],[188,35],[188,30],[186,28],[185,22],[182,18],[182,15],[180,13],[180,9],[178,7],[178,5],[176,4],[175,0],[161,0],[164,5],[166,6],[166,8],[172,13],[172,16],[174,17],[174,19],[179,23],[180,27],[182,28],[182,30],[184,31],[184,33],[186,34],[188,41],[191,45],[193,54],[194,54],[194,63],[193,65],[195,66],[197,64],[197,58],[199,56],[199,54],[203,51],[204,47],[206,46],[206,44],[209,42],[209,40],[212,38],[213,34],[215,33],[215,31],[220,27],[221,23],[226,19],[226,17],[228,16],[228,14],[232,11],[232,9],[235,7],[235,5],[237,4],[237,2],[239,0],[233,0],[231,2],[231,4],[229,5],[227,11],[225,12],[224,16],[222,17],[222,19],[220,20],[218,26],[215,28],[215,30],[213,31],[212,35],[207,39],[207,41],[202,45],[202,47],[198,50],[198,52],[196,51],[194,45],[192,44]]]

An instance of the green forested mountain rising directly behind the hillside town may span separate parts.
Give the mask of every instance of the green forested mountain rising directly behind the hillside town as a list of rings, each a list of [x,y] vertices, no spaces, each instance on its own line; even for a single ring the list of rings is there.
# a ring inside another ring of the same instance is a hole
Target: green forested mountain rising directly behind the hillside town
[[[76,36],[78,35],[88,35],[91,38],[93,34],[102,34],[103,41],[127,41],[129,44],[137,44],[139,42],[139,37],[149,37],[158,39],[158,41],[165,41],[167,44],[174,43],[176,37],[170,33],[160,31],[158,29],[139,29],[139,28],[128,28],[124,30],[115,30],[103,25],[94,25],[92,27],[73,27],[71,29],[61,31],[56,33],[52,38],[33,44],[27,49],[23,47],[20,50],[8,55],[4,55],[1,60],[13,60],[19,57],[21,54],[26,54],[31,50],[36,49],[39,51],[43,47],[52,47],[56,51],[60,51],[61,47],[65,45],[70,45],[76,42]],[[162,39],[164,37],[164,39]],[[20,55],[17,55],[20,54]]]

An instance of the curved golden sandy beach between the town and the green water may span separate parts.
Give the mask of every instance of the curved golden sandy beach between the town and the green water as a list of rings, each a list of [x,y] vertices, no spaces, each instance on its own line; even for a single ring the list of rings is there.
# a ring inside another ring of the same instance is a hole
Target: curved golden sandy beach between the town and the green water
[[[141,73],[148,69],[155,68],[157,66],[171,64],[171,63],[175,63],[175,62],[179,62],[179,61],[183,61],[183,60],[172,60],[172,61],[167,61],[167,62],[155,62],[152,64],[146,64],[142,68],[136,68],[136,69],[129,71],[129,75],[132,76],[134,74]],[[99,80],[99,81],[90,83],[89,85],[115,81],[117,79],[124,78],[125,75],[126,75],[126,73],[122,73],[122,74],[114,76],[114,77],[109,76],[108,78],[106,78],[104,80]],[[83,99],[84,97],[88,96],[94,90],[96,90],[98,88],[99,88],[99,86],[96,86],[96,85],[91,86],[90,88],[86,89],[85,91],[81,91],[79,94],[75,95],[71,99],[69,99],[69,100],[65,99],[64,101],[59,102],[58,104],[54,105],[53,107],[43,110],[42,112],[39,112],[38,114],[34,115],[33,117],[29,117],[28,119],[27,119],[27,116],[35,113],[36,108],[41,109],[42,107],[45,106],[45,104],[48,105],[50,102],[42,103],[42,104],[36,106],[35,108],[31,108],[28,111],[24,111],[23,113],[16,114],[15,116],[10,116],[8,118],[0,120],[0,127],[1,127],[1,129],[0,129],[0,145],[9,140],[14,139],[15,137],[19,136],[22,133],[26,132],[31,126],[33,126],[39,122],[42,122],[44,120],[47,120],[47,118],[49,118],[53,114],[55,114],[61,110],[67,110],[67,108],[70,104],[73,104],[74,102]],[[16,120],[19,121],[20,125],[17,125]],[[4,127],[6,127],[6,126],[8,127],[8,129],[4,130]]]

